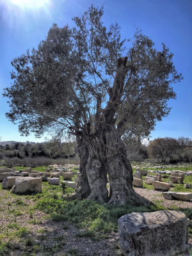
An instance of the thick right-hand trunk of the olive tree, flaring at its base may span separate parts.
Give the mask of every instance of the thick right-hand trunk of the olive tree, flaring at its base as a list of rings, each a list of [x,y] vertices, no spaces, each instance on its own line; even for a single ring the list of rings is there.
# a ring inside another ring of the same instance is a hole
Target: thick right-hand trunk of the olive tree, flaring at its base
[[[139,206],[150,203],[132,188],[132,167],[126,149],[115,126],[106,129],[106,168],[109,173],[110,198],[108,204],[124,205],[130,200]]]

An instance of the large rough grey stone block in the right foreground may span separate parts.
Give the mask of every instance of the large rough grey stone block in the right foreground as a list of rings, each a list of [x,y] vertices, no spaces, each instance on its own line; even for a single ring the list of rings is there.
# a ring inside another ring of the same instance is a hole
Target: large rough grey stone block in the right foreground
[[[125,256],[171,256],[186,252],[189,219],[179,211],[133,212],[118,219]]]

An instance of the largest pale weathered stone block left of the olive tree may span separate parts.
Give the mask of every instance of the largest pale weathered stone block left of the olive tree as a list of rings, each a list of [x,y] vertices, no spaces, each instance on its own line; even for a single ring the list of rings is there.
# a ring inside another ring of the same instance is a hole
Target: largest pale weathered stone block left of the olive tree
[[[17,177],[11,192],[16,194],[42,193],[42,179],[33,177]]]

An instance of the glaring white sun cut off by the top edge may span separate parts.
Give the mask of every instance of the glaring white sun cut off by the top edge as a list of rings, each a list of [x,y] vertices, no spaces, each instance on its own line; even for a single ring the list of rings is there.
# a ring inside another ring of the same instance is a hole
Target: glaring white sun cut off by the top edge
[[[10,0],[10,3],[20,8],[38,9],[46,7],[46,5],[50,3],[50,0]]]

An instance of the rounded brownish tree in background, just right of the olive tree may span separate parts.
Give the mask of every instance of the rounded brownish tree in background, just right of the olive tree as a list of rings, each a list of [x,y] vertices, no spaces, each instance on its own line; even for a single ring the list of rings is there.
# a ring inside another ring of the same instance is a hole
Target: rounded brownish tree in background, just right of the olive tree
[[[178,141],[173,138],[157,138],[150,141],[148,153],[150,156],[160,158],[164,163],[167,161],[168,157],[172,157],[173,154],[177,152],[178,147]]]

